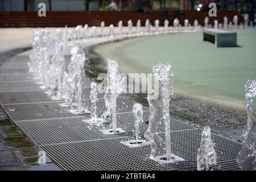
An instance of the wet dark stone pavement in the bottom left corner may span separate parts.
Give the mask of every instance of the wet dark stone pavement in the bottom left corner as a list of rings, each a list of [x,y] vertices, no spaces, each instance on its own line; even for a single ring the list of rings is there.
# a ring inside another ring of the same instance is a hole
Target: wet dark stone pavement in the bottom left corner
[[[48,157],[39,164],[40,151],[0,110],[0,171],[61,170]]]

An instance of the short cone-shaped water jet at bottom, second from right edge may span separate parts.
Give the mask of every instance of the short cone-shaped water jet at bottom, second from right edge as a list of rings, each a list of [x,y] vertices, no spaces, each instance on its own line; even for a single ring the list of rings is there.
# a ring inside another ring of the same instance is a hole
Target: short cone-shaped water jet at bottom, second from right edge
[[[197,153],[197,170],[198,171],[209,171],[209,166],[217,164],[217,154],[214,150],[215,143],[210,138],[210,127],[205,126],[200,148]]]

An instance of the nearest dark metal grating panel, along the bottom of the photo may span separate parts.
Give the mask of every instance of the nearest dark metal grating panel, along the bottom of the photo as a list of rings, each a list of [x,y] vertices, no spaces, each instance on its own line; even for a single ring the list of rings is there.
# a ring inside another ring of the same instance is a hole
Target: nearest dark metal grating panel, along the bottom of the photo
[[[201,133],[201,130],[177,131],[171,133],[171,150],[172,153],[184,158],[184,162],[176,164],[159,164],[148,158],[150,155],[150,147],[144,146],[139,148],[129,148],[121,141],[129,140],[129,138],[113,138],[90,140],[87,142],[73,142],[40,146],[47,154],[56,160],[64,169],[69,170],[178,170],[187,168],[196,168],[197,146],[200,141],[192,138],[196,147],[189,146],[189,141],[183,141],[183,146],[179,145],[180,138],[177,133],[186,138],[191,137],[189,132]],[[218,154],[218,166],[223,162],[226,150],[233,148],[221,146],[221,138],[215,138],[216,151]],[[226,141],[227,146],[232,146],[234,142]],[[187,150],[188,152],[184,152]],[[236,150],[234,152],[237,152]],[[161,152],[159,155],[162,155]],[[237,154],[237,153],[236,153]],[[236,155],[230,155],[230,159],[236,159]],[[231,167],[230,167],[231,168]]]

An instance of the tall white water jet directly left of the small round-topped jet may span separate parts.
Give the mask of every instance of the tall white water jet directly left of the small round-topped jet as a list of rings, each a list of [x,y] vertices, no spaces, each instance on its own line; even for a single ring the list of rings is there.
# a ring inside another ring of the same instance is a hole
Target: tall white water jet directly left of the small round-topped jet
[[[117,97],[124,91],[125,78],[118,74],[118,64],[112,59],[108,59],[107,88],[104,95],[106,112],[102,115],[104,119],[112,115],[112,130],[117,132],[116,105]]]

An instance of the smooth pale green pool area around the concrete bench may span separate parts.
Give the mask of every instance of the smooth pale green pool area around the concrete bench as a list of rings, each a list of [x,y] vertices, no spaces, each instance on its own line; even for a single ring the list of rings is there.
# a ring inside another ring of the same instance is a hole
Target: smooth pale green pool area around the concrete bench
[[[256,29],[237,30],[237,36],[239,47],[216,48],[196,32],[129,39],[95,51],[117,60],[122,73],[150,73],[155,63],[170,63],[176,93],[242,108],[245,82],[256,78]]]

